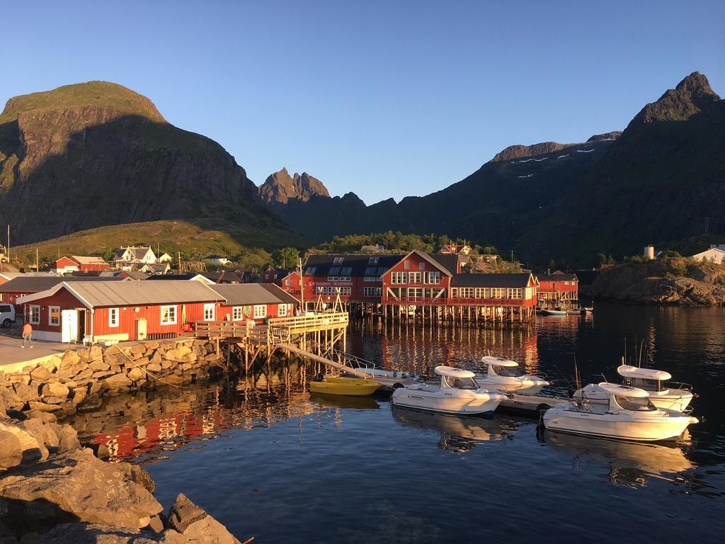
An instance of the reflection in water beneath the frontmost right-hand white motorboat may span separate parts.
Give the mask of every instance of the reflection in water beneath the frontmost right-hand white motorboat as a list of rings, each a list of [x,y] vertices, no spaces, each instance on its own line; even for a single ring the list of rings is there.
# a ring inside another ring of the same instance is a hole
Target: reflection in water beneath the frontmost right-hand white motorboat
[[[542,440],[552,449],[570,455],[576,470],[586,470],[589,461],[604,463],[609,467],[609,481],[616,485],[645,486],[650,478],[684,482],[688,479],[684,471],[696,466],[684,451],[684,445],[689,444],[687,431],[684,445],[623,442],[558,432],[544,432]]]

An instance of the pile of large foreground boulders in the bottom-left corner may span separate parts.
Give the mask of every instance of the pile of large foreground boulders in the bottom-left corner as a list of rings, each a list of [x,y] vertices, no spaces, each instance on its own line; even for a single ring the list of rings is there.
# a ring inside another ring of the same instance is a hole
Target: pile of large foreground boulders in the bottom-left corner
[[[0,543],[239,543],[184,495],[164,514],[154,489],[140,466],[81,448],[70,425],[0,406]]]

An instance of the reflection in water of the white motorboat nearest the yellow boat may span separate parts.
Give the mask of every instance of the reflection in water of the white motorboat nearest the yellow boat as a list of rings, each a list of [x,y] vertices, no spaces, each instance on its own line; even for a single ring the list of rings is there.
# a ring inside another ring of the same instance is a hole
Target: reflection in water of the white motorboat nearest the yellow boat
[[[446,416],[409,408],[392,408],[393,418],[399,423],[418,429],[432,429],[441,434],[438,447],[454,453],[476,448],[479,442],[503,440],[512,437],[516,430],[513,421],[481,419],[474,417]]]

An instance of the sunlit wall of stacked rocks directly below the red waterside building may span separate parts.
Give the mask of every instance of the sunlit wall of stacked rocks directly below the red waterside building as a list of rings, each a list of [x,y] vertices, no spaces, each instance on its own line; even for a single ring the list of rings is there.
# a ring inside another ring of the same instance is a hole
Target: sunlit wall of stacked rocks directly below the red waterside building
[[[103,395],[180,385],[223,371],[225,359],[207,340],[92,346],[67,350],[20,371],[0,372],[0,399],[17,419],[56,422],[96,408]]]

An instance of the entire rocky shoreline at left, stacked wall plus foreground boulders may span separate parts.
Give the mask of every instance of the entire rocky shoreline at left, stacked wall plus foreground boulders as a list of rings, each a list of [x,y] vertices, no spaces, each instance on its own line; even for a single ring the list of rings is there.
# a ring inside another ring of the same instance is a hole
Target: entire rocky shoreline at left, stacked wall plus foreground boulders
[[[239,544],[179,495],[167,515],[149,474],[82,448],[58,419],[102,395],[182,384],[223,366],[215,345],[188,339],[67,351],[0,374],[0,544]]]

